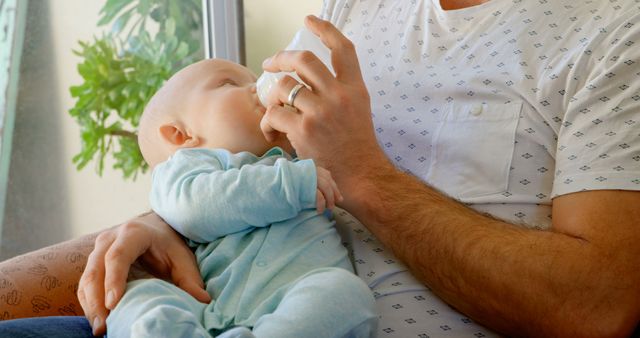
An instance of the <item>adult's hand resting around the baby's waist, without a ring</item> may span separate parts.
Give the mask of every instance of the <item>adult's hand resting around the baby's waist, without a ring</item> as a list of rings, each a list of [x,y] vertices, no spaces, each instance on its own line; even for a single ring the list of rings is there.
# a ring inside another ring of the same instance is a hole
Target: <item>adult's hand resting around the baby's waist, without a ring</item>
[[[155,213],[101,233],[78,285],[78,300],[94,335],[124,294],[130,267],[138,260],[154,276],[173,281],[201,302],[210,302],[195,257],[180,236]],[[105,298],[106,295],[106,298]]]

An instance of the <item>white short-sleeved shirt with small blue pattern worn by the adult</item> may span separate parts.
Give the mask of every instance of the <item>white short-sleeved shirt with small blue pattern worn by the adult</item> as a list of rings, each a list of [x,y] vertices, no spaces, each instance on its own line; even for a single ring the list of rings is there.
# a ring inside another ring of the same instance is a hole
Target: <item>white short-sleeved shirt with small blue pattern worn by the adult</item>
[[[640,190],[640,0],[325,0],[357,49],[380,146],[481,212],[551,225],[552,198]],[[346,212],[379,337],[494,333],[449,308]]]

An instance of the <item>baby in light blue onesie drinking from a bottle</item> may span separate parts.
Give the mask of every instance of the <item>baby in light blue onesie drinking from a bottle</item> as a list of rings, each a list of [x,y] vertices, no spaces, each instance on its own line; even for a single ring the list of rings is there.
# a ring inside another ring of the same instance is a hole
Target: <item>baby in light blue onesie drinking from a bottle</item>
[[[369,337],[371,291],[322,213],[340,198],[328,171],[267,142],[256,77],[224,60],[175,74],[147,105],[140,149],[151,206],[195,249],[203,304],[159,279],[131,282],[109,337]]]

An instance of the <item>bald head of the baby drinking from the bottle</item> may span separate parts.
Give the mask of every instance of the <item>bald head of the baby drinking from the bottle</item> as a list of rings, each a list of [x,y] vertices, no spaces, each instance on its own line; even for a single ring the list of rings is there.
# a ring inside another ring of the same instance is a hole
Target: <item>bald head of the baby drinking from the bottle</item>
[[[284,135],[268,142],[260,130],[265,108],[256,76],[226,60],[203,60],[173,75],[140,119],[138,143],[153,168],[180,148],[224,148],[262,155],[272,147],[292,152]]]

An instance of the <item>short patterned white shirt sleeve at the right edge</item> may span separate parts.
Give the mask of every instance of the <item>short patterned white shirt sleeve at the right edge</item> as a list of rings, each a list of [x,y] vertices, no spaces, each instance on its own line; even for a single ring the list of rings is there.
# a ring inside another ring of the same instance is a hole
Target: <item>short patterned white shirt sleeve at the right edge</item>
[[[574,65],[584,82],[558,133],[552,197],[640,190],[640,16],[607,27]],[[605,34],[606,32],[606,34]]]

